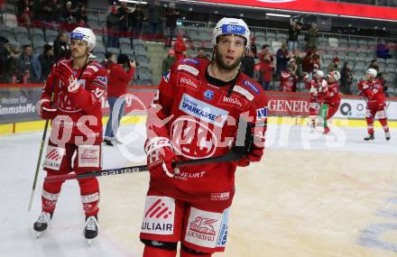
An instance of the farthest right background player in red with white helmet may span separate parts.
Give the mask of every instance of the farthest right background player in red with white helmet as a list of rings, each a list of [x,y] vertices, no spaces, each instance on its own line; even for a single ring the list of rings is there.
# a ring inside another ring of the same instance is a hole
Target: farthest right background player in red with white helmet
[[[377,115],[379,122],[382,124],[386,140],[390,140],[386,115],[386,96],[383,93],[382,82],[376,79],[376,75],[376,69],[368,69],[366,71],[366,80],[360,81],[357,85],[360,94],[364,96],[366,102],[365,120],[368,135],[364,138],[365,141],[374,140],[375,115]]]

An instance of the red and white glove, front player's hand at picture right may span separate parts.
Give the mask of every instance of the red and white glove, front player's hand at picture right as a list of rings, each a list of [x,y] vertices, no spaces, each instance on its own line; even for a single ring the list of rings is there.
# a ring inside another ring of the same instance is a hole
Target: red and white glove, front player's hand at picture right
[[[239,167],[246,167],[251,161],[261,161],[264,151],[264,133],[266,126],[263,124],[262,127],[257,126],[251,128],[252,140],[251,147],[245,154],[245,158],[237,161],[236,165]],[[248,132],[247,132],[248,133]]]

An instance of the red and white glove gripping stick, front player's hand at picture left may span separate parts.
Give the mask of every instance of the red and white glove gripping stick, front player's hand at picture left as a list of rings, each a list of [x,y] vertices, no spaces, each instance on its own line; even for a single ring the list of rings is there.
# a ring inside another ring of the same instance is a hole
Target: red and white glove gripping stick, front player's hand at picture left
[[[160,179],[164,174],[173,178],[179,173],[178,168],[172,168],[172,162],[179,159],[173,151],[170,139],[153,137],[145,143],[144,151],[147,154],[147,166],[153,178]]]

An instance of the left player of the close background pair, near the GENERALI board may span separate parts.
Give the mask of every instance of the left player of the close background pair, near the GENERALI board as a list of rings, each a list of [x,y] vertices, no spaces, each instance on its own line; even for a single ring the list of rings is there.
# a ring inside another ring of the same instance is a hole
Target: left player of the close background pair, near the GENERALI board
[[[311,120],[311,127],[316,126],[316,118],[319,115],[319,106],[322,105],[324,99],[323,88],[326,87],[327,81],[324,79],[324,72],[322,70],[317,70],[313,72],[313,78],[309,79],[309,75],[305,74],[303,76],[305,82],[305,87],[309,89],[310,99],[309,99],[309,115]]]

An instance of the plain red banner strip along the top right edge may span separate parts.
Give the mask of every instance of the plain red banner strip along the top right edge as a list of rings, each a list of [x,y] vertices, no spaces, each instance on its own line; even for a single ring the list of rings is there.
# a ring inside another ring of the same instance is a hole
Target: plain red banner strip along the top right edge
[[[325,0],[200,0],[199,2],[242,5],[245,7],[262,7],[317,14],[376,18],[393,21],[397,20],[397,8],[375,5],[358,5]]]

